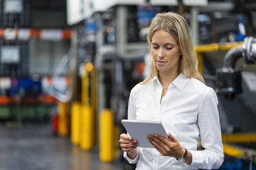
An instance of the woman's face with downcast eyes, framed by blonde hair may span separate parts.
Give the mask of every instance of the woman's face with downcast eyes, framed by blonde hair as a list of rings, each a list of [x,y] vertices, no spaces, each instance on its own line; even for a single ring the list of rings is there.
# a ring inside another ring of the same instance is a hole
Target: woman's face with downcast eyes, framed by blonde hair
[[[151,53],[159,73],[178,73],[180,47],[169,32],[158,29],[153,33]]]

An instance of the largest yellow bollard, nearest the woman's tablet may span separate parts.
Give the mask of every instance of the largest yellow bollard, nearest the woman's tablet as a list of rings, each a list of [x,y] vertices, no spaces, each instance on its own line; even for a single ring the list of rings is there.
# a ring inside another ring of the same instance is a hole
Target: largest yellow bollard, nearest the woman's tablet
[[[100,160],[111,162],[114,159],[114,115],[111,110],[100,113]]]

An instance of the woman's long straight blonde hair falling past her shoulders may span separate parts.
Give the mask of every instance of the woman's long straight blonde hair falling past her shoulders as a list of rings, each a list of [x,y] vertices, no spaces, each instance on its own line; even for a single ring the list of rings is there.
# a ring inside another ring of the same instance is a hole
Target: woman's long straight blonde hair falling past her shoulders
[[[193,51],[193,45],[191,36],[189,34],[189,27],[186,24],[185,19],[179,14],[174,12],[167,12],[157,14],[149,27],[149,34],[147,34],[147,42],[149,43],[149,58],[150,58],[150,71],[149,76],[140,84],[146,84],[153,77],[158,74],[158,69],[156,69],[153,63],[153,56],[151,54],[151,40],[154,32],[161,29],[165,32],[169,32],[173,38],[177,41],[180,46],[180,51],[182,53],[179,71],[183,73],[186,77],[194,77],[204,83],[204,78],[195,69],[195,52]]]

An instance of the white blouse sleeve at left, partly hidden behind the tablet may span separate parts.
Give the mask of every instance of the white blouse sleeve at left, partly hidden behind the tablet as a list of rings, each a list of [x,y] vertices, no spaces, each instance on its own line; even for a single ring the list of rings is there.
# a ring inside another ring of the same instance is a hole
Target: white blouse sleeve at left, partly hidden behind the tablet
[[[128,103],[128,119],[129,120],[134,120],[136,119],[136,106],[134,105],[134,88],[131,90],[130,97],[129,97],[129,103]],[[130,164],[136,164],[138,162],[139,154],[140,154],[140,149],[138,148],[138,154],[136,158],[131,159],[127,156],[127,151],[124,151],[124,158],[130,163]]]

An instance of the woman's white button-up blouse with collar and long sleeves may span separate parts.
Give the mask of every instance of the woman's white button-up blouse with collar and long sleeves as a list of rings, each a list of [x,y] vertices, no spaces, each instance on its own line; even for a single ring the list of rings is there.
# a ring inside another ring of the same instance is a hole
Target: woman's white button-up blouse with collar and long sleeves
[[[192,153],[191,165],[158,150],[138,147],[134,160],[124,157],[129,163],[137,163],[136,169],[218,169],[223,162],[223,145],[220,119],[215,91],[195,78],[182,73],[169,85],[162,97],[162,85],[158,77],[148,84],[137,84],[131,90],[128,119],[161,121],[166,132],[170,132]],[[204,150],[198,151],[201,140]]]

